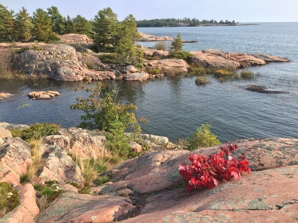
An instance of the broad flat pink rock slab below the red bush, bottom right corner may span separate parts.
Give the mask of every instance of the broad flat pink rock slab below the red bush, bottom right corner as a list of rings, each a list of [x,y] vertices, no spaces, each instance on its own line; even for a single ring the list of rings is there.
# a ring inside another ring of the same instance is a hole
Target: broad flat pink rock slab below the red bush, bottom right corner
[[[297,184],[298,166],[252,172],[211,190],[153,195],[139,216],[123,222],[295,222]]]

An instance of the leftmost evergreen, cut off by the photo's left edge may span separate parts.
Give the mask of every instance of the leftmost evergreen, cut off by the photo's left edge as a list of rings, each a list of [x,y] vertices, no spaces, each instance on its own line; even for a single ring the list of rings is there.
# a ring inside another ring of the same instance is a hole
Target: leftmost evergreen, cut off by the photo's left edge
[[[15,20],[13,10],[8,11],[7,7],[0,4],[0,41],[15,41]]]

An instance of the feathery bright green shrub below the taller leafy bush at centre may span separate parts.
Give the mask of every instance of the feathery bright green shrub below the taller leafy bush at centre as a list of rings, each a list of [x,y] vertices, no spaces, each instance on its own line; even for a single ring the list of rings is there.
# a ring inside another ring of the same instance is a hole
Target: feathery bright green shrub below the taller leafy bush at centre
[[[120,121],[112,122],[106,135],[107,149],[115,156],[123,160],[135,158],[138,153],[134,152],[128,144],[129,138],[125,137],[125,125]]]

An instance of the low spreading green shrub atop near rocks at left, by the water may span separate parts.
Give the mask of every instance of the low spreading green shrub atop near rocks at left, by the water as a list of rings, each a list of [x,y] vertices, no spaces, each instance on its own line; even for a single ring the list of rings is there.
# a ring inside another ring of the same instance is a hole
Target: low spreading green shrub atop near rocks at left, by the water
[[[51,123],[35,123],[29,128],[22,130],[21,138],[23,140],[40,139],[44,136],[55,135],[59,131],[60,126]]]

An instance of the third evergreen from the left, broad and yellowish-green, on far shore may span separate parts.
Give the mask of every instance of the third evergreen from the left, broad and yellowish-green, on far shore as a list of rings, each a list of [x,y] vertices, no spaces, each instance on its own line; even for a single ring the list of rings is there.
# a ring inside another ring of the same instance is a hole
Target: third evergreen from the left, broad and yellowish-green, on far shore
[[[52,31],[51,17],[41,8],[37,8],[33,12],[33,29],[32,35],[38,41],[50,41],[57,39],[57,36]]]

